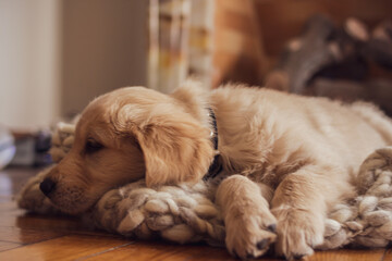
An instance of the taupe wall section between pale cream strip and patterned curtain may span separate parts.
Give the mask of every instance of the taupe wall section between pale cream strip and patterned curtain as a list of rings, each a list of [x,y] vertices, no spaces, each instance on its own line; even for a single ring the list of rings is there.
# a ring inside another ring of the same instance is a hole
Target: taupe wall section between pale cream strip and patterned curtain
[[[114,88],[146,85],[147,3],[63,0],[61,112]]]

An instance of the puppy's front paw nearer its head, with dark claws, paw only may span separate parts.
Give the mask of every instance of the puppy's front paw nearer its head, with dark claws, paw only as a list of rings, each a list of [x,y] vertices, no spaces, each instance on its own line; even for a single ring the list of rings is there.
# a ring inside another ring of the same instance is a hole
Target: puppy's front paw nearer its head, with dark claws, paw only
[[[269,210],[267,212],[237,213],[225,220],[225,244],[231,254],[250,259],[269,249],[277,238],[277,221]]]

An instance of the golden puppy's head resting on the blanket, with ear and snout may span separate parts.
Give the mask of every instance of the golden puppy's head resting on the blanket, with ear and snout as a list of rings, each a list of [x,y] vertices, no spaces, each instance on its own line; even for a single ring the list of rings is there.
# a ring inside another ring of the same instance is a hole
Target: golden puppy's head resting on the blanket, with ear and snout
[[[128,87],[97,98],[82,113],[71,151],[41,190],[62,211],[76,214],[109,189],[143,177],[147,186],[198,181],[213,148],[191,97],[183,89],[167,96]]]

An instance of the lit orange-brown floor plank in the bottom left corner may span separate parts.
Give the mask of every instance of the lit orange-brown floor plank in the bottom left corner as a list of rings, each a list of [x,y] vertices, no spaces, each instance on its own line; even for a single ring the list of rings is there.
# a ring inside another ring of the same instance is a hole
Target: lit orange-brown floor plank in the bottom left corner
[[[70,235],[0,252],[0,260],[75,260],[133,244],[119,238]]]

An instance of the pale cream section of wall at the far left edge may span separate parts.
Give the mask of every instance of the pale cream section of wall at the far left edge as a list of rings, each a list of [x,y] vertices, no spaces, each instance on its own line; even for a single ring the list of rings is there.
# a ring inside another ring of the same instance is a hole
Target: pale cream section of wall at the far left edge
[[[0,124],[47,126],[59,115],[59,1],[0,0]]]

